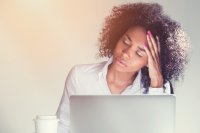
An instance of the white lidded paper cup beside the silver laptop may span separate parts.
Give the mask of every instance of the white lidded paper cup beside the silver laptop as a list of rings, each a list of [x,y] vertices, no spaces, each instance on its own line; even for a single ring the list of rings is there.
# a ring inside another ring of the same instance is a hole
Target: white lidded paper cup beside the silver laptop
[[[58,119],[53,115],[39,115],[34,119],[36,133],[57,133]]]

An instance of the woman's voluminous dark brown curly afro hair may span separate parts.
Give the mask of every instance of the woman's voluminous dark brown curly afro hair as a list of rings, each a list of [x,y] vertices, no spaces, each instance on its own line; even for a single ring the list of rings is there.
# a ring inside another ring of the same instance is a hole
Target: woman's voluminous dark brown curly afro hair
[[[189,43],[180,24],[164,14],[158,3],[128,3],[113,7],[100,32],[100,57],[111,57],[119,39],[133,26],[142,26],[154,37],[159,37],[164,83],[169,81],[173,88],[174,81],[183,79]],[[141,72],[141,82],[147,93],[150,86],[148,68],[142,68]]]

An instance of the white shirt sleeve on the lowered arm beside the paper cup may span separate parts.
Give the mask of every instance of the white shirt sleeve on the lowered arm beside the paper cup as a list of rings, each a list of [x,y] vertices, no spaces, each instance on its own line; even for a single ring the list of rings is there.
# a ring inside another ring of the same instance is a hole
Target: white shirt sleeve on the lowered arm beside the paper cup
[[[74,67],[67,76],[62,99],[56,113],[57,117],[59,118],[58,133],[70,133],[69,97],[70,95],[74,94],[76,85],[76,71]]]

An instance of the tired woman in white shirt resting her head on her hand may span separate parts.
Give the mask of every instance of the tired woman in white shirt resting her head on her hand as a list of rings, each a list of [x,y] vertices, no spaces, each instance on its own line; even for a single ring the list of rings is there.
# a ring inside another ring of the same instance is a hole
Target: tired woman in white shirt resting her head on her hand
[[[71,69],[57,111],[58,133],[69,133],[71,95],[173,94],[172,83],[187,63],[184,32],[157,3],[114,7],[100,42],[100,56],[109,59]]]

